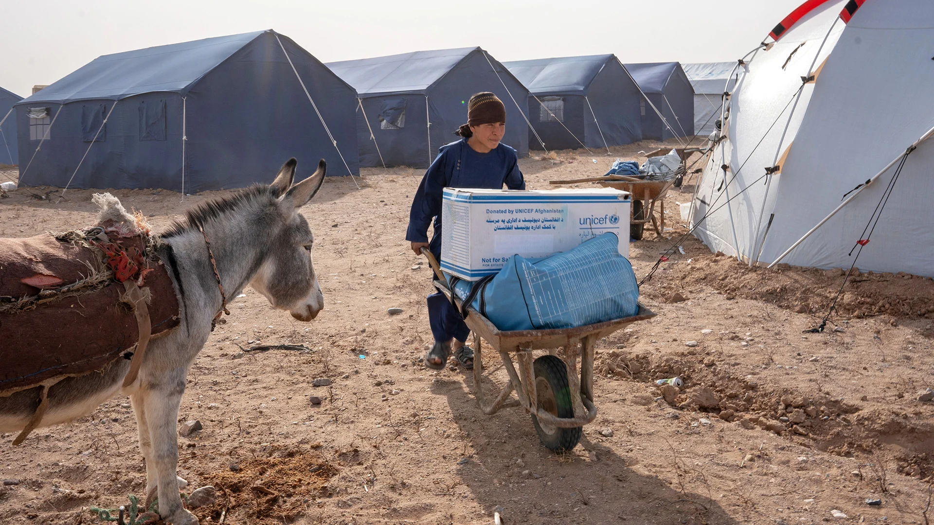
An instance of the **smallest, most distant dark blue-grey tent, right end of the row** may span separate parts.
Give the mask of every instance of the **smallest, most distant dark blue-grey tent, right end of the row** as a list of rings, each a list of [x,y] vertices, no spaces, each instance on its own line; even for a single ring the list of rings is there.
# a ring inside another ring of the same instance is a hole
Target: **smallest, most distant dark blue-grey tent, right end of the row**
[[[694,90],[685,70],[676,62],[626,64],[645,97],[665,118],[646,101],[642,102],[643,138],[667,140],[672,136],[694,135]],[[668,125],[665,124],[668,123]]]

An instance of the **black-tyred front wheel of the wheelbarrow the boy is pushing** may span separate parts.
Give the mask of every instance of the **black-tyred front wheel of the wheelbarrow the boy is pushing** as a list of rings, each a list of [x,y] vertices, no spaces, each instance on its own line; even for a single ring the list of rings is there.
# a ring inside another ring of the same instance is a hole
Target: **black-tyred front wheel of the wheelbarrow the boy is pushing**
[[[564,362],[558,357],[545,355],[535,360],[535,390],[538,393],[538,406],[545,412],[559,418],[573,418],[571,391],[568,387],[568,372]],[[531,424],[542,444],[553,452],[564,452],[577,446],[584,427],[561,429],[542,423],[531,415]]]

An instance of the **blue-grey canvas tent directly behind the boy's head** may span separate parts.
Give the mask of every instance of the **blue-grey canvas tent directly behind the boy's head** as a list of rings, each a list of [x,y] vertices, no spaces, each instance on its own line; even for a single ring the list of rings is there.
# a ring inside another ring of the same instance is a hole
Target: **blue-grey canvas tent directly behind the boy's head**
[[[520,157],[529,153],[526,121],[513,103],[515,97],[524,111],[529,92],[480,48],[415,51],[327,65],[360,97],[361,166],[428,167],[438,148],[458,138],[454,131],[467,121],[467,100],[475,92],[494,92],[502,99],[507,121],[502,143],[517,149]]]

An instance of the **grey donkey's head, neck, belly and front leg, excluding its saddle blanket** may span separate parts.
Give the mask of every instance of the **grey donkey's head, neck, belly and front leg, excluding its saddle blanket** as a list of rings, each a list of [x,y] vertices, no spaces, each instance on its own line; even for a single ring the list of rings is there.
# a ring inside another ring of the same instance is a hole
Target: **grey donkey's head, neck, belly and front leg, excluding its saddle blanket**
[[[122,387],[130,362],[118,359],[100,374],[68,377],[49,390],[42,426],[76,419],[117,395],[130,396],[148,500],[158,495],[160,516],[175,525],[198,523],[178,495],[178,405],[189,367],[226,309],[225,293],[233,297],[249,284],[303,321],[324,307],[311,262],[311,230],[298,208],[318,192],[326,164],[321,160],[314,175],[292,185],[296,164],[290,159],[268,186],[189,211],[162,234],[157,252],[173,280],[180,323],[150,341],[134,382]],[[0,397],[0,432],[21,430],[35,413],[37,396],[38,389],[30,389]]]

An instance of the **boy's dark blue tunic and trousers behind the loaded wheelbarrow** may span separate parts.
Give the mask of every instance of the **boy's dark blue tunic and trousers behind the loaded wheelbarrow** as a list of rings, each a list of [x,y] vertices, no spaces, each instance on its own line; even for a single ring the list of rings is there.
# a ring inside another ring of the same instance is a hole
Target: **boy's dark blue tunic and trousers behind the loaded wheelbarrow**
[[[516,149],[501,143],[488,153],[477,153],[467,145],[466,139],[443,146],[418,185],[409,212],[405,240],[428,242],[428,226],[434,220],[429,250],[435,259],[440,260],[442,191],[445,188],[502,190],[503,184],[510,190],[525,190]],[[428,318],[435,341],[449,341],[451,338],[466,341],[470,334],[460,313],[440,291],[428,296]]]

